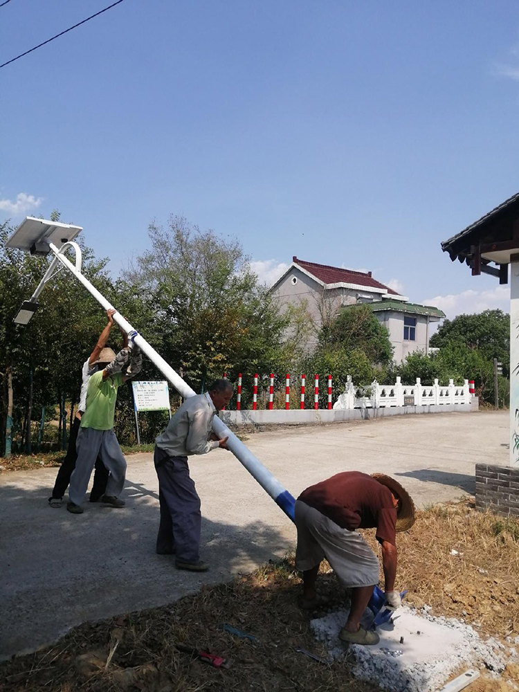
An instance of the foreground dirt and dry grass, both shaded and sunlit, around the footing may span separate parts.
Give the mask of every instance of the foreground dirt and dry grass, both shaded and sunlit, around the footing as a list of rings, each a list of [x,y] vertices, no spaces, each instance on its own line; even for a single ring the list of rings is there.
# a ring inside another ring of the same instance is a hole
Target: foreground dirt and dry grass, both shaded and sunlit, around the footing
[[[374,544],[372,531],[367,540]],[[454,552],[453,552],[454,551]],[[519,522],[473,509],[471,499],[420,511],[399,538],[399,587],[408,601],[432,606],[432,614],[464,618],[484,635],[519,636]],[[347,604],[333,572],[322,565],[320,588],[331,608]],[[204,588],[161,608],[86,623],[54,646],[0,665],[2,692],[374,692],[355,680],[349,660],[323,664],[296,653],[324,655],[297,607],[300,577],[288,556],[254,574]],[[228,623],[257,639],[223,630]],[[15,626],[15,623],[13,623]],[[214,668],[176,644],[221,655],[229,668]],[[462,672],[462,671],[459,671]],[[471,692],[509,692],[519,666],[502,680],[482,678]]]

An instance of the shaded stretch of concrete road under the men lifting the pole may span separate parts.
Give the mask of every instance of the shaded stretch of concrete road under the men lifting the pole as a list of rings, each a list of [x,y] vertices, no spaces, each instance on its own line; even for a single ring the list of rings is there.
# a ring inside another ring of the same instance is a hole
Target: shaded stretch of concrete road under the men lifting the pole
[[[0,487],[0,658],[34,650],[81,622],[170,603],[203,584],[228,581],[292,547],[286,534],[252,520],[253,508],[250,518],[237,512],[234,522],[204,518],[201,556],[211,570],[180,572],[174,556],[155,553],[156,493],[130,479],[125,509],[87,500],[84,513],[73,515],[66,502],[49,507],[48,488],[24,489],[23,482]],[[222,509],[228,509],[224,499]]]

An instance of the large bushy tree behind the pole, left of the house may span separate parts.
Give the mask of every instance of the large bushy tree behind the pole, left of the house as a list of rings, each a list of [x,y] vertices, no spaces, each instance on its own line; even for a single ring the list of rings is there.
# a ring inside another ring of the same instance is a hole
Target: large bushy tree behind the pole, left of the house
[[[181,217],[149,226],[152,248],[122,274],[118,290],[138,293],[163,357],[195,389],[208,379],[279,367],[289,317],[280,315],[251,271],[242,246]]]

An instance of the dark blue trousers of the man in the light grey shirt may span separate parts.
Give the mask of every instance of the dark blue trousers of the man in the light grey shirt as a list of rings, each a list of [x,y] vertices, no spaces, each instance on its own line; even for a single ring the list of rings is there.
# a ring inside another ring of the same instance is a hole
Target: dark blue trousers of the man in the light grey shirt
[[[200,559],[200,498],[189,475],[188,457],[170,457],[155,447],[161,525],[157,552],[175,552],[178,560],[197,563]]]

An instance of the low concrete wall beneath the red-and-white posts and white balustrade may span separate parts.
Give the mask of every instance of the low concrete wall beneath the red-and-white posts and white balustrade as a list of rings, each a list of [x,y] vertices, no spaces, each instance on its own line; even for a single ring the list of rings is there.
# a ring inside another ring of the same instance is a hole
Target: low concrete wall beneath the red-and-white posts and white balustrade
[[[419,413],[468,413],[474,403],[444,404],[442,406],[392,406],[388,408],[354,408],[351,410],[256,410],[220,411],[219,416],[227,425],[266,426],[266,425],[311,425],[323,423],[342,423],[346,421],[370,420]],[[477,404],[476,404],[477,406]]]

